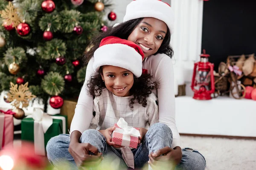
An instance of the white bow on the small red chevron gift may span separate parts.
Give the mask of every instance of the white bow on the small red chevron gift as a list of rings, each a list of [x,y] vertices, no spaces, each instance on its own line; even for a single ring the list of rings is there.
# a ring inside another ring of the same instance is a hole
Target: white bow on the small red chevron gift
[[[124,118],[120,118],[119,121],[116,123],[120,128],[123,133],[123,136],[137,136],[140,137],[140,131],[135,129],[134,127],[128,126],[128,123],[125,122]],[[116,128],[116,131],[120,131],[120,129]]]

